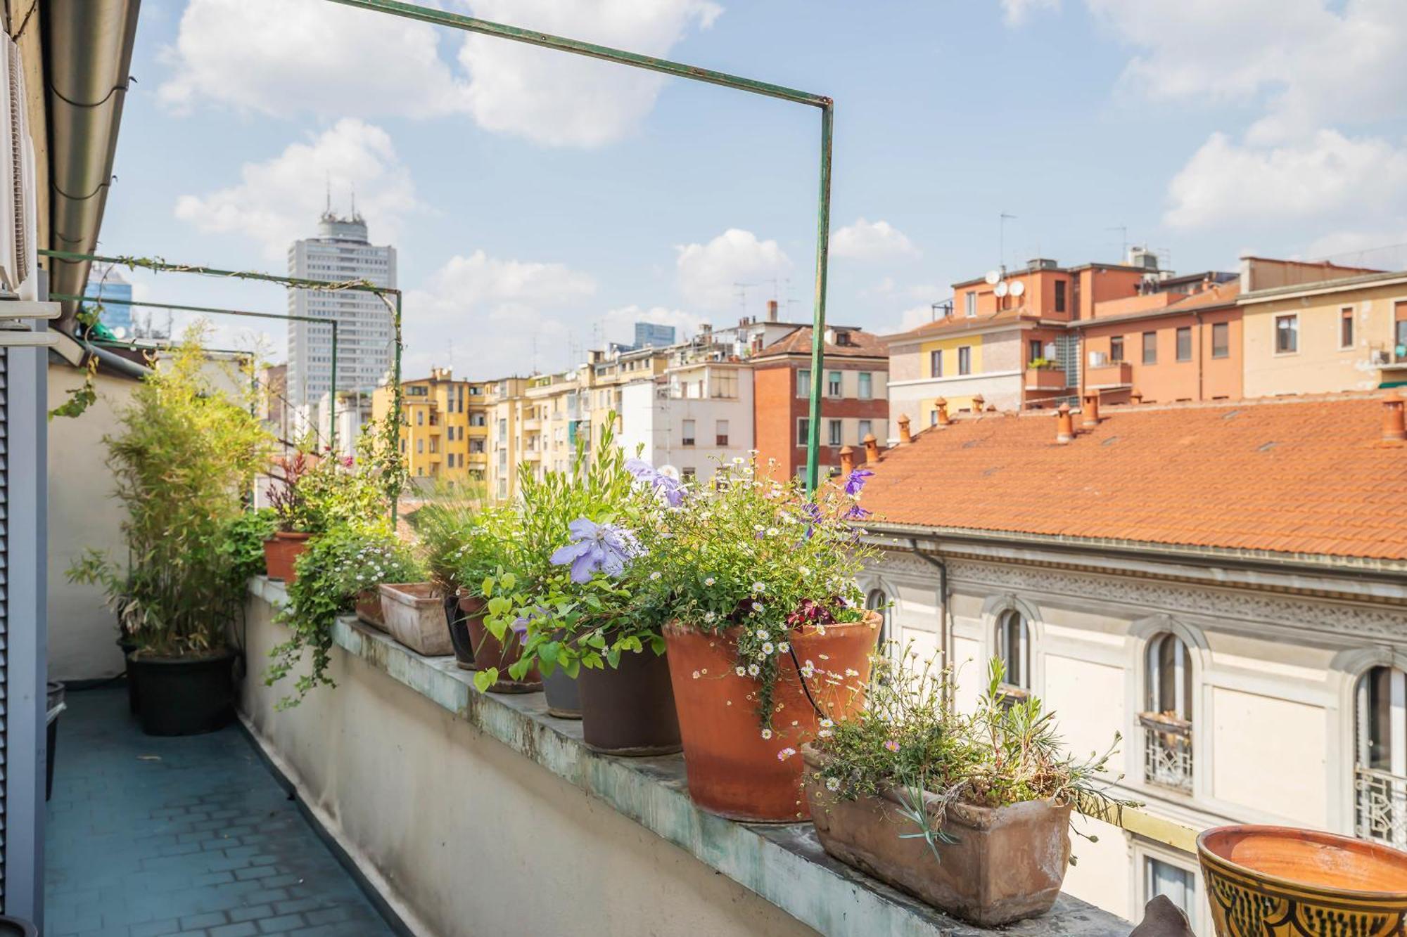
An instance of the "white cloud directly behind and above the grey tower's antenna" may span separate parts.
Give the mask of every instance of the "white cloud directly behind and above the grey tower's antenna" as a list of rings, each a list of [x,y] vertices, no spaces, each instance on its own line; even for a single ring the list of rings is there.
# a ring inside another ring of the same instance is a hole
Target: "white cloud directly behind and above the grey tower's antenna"
[[[376,243],[394,242],[405,215],[421,208],[390,134],[350,118],[273,159],[245,163],[239,177],[228,189],[182,196],[176,217],[200,231],[246,235],[270,259],[286,256],[288,245],[307,234],[324,208],[328,180],[339,198],[356,187],[357,211]]]

